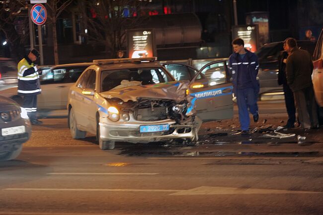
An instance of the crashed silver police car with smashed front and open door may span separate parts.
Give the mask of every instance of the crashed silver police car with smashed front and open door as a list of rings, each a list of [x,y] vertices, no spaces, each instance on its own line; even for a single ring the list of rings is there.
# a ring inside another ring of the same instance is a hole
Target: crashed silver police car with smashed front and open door
[[[179,82],[154,58],[96,61],[71,86],[67,108],[72,137],[95,134],[103,150],[116,141],[192,142],[201,121],[232,118],[232,84],[225,61]]]

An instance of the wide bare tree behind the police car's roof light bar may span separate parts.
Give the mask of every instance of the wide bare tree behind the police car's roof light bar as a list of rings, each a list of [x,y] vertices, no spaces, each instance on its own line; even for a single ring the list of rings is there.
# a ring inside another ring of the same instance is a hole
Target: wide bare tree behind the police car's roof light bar
[[[79,0],[87,30],[83,35],[104,45],[110,57],[117,57],[117,51],[126,46],[125,30],[147,19],[142,13],[146,4],[140,0]]]

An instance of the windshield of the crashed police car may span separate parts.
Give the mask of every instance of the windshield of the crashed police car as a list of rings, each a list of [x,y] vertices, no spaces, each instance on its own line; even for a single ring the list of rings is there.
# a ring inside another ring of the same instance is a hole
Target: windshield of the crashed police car
[[[131,86],[173,81],[162,68],[133,68],[109,70],[101,73],[101,92]]]

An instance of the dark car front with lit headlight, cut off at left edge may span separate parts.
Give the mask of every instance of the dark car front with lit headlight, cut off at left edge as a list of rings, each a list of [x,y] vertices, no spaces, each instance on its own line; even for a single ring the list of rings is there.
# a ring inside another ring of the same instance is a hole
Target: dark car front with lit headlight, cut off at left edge
[[[16,158],[22,144],[31,136],[31,124],[25,109],[12,99],[0,96],[0,161]]]

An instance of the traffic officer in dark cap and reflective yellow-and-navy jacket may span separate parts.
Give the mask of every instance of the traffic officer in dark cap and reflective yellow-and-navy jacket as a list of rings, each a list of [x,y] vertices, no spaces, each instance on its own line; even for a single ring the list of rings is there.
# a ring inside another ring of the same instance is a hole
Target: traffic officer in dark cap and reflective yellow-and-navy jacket
[[[38,68],[34,62],[39,57],[39,52],[32,49],[28,56],[18,63],[18,95],[23,96],[22,107],[26,109],[32,125],[42,124],[37,120],[37,95],[40,94]]]

